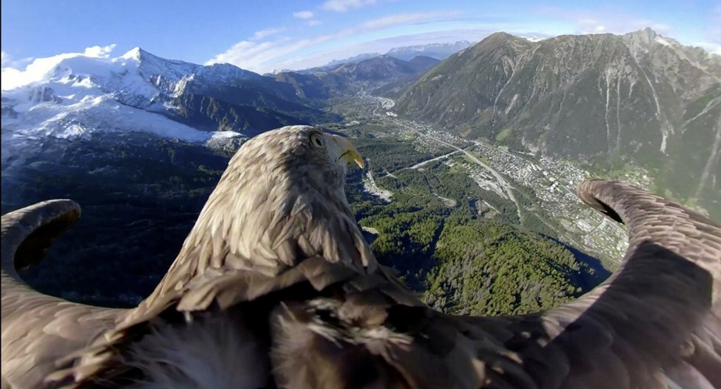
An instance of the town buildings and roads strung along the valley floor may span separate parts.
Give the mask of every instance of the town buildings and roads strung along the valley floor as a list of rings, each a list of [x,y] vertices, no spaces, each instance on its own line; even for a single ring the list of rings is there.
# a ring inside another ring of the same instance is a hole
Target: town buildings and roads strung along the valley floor
[[[397,179],[398,171],[423,170],[442,161],[454,171],[463,171],[489,194],[489,198],[479,199],[480,204],[476,206],[479,213],[492,218],[509,210],[510,203],[516,221],[521,225],[547,233],[562,243],[598,257],[606,268],[616,269],[627,246],[626,231],[622,225],[611,223],[585,206],[575,195],[578,184],[596,177],[590,171],[572,161],[538,158],[531,153],[508,151],[504,146],[480,140],[464,140],[433,125],[399,117],[392,112],[393,107],[392,99],[367,95],[336,105],[337,112],[348,119],[337,130],[350,136],[410,141],[429,153],[422,161],[409,161],[408,166],[392,171],[374,166],[371,159],[369,169],[376,171],[376,179],[370,171],[366,174],[370,194],[393,201],[394,190],[383,187],[383,179]],[[436,156],[441,149],[448,152]],[[652,184],[642,169],[626,172],[620,179],[640,187]],[[464,200],[440,198],[446,204]],[[498,204],[505,207],[499,209],[502,207]]]

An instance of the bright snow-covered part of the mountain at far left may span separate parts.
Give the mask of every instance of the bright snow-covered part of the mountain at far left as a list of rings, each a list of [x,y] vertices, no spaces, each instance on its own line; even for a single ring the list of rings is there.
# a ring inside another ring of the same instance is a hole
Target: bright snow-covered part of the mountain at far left
[[[139,48],[118,58],[63,54],[4,77],[4,137],[76,138],[98,130],[143,130],[189,141],[218,135],[159,115],[198,67],[150,55],[141,64],[142,54]]]

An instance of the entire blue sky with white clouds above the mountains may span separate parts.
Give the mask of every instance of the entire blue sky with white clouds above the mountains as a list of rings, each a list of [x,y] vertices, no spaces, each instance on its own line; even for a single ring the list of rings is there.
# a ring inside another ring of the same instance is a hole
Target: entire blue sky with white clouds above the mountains
[[[643,27],[721,54],[721,1],[1,0],[0,17],[2,68],[19,70],[35,58],[95,46],[115,57],[139,46],[267,73],[497,31],[543,38]]]

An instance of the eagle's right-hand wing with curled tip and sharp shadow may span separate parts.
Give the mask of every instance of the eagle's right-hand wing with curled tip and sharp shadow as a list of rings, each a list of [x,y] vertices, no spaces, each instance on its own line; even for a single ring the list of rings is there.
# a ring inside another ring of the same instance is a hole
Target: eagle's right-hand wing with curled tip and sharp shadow
[[[462,320],[516,353],[531,387],[721,388],[719,225],[619,182],[585,182],[579,196],[628,226],[619,270],[542,313]]]

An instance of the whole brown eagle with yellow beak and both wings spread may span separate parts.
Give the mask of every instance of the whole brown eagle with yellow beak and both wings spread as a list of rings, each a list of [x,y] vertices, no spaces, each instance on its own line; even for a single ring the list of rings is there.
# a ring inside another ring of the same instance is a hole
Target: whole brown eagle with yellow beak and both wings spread
[[[2,216],[2,388],[721,388],[721,227],[629,184],[583,202],[627,225],[620,268],[521,316],[433,310],[376,261],[346,200],[346,138],[288,126],[229,161],[136,308],[43,295],[37,264],[80,207]]]

